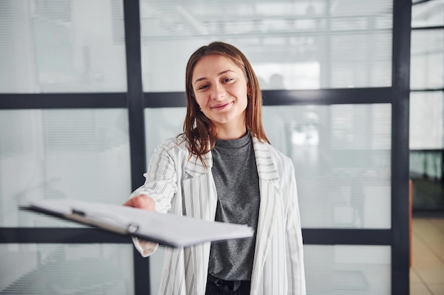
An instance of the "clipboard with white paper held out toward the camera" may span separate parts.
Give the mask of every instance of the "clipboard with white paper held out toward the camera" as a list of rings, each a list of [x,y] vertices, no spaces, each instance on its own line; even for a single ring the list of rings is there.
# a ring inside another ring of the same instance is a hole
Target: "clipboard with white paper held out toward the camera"
[[[250,226],[243,224],[206,221],[117,204],[69,199],[43,199],[30,202],[20,209],[67,219],[172,248],[232,238],[248,238],[254,233]]]

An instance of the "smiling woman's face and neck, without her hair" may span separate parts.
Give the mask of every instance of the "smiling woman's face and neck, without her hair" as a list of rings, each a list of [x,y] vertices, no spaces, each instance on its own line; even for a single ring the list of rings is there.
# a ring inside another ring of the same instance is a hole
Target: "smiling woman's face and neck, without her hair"
[[[222,55],[206,55],[194,66],[192,86],[196,103],[218,129],[218,139],[245,134],[249,89],[242,69]]]

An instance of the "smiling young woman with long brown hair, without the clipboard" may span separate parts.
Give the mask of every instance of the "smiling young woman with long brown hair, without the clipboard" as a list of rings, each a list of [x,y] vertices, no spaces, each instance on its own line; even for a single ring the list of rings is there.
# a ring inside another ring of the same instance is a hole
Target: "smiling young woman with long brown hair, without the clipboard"
[[[245,55],[212,42],[186,71],[184,133],[153,154],[126,206],[248,224],[252,238],[166,248],[159,294],[306,294],[292,161],[262,127],[262,94]],[[135,239],[146,257],[157,244]]]

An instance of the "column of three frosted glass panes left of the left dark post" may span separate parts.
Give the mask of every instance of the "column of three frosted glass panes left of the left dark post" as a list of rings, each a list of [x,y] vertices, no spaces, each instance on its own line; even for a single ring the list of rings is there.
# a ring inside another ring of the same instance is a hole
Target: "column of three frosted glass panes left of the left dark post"
[[[0,1],[0,44],[4,96],[126,92],[122,1]],[[0,110],[1,229],[84,228],[18,207],[130,192],[126,108]],[[4,243],[0,277],[0,294],[133,294],[133,245]]]

